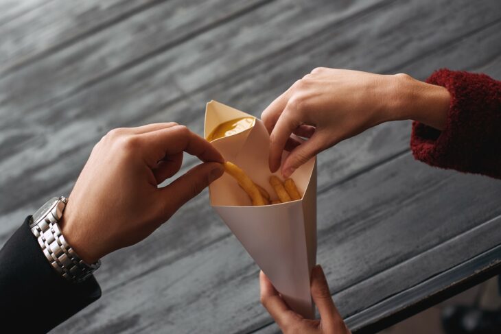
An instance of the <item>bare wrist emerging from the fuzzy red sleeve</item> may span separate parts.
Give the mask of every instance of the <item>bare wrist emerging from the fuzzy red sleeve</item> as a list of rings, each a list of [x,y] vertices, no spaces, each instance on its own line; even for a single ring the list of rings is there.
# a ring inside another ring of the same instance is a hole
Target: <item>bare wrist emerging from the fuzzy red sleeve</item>
[[[445,87],[395,74],[391,101],[389,112],[393,120],[412,119],[438,130],[445,127],[450,108],[450,93]]]

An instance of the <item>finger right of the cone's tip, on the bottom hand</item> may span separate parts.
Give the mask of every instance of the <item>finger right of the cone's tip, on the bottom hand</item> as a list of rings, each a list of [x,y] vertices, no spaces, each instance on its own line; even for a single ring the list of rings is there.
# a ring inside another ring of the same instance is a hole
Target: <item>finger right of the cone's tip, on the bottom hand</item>
[[[336,329],[334,333],[345,333],[340,331],[345,329],[345,322],[342,321],[341,315],[334,305],[327,279],[320,265],[313,267],[311,289],[312,298],[316,307],[318,307],[318,313],[320,313],[325,328]]]

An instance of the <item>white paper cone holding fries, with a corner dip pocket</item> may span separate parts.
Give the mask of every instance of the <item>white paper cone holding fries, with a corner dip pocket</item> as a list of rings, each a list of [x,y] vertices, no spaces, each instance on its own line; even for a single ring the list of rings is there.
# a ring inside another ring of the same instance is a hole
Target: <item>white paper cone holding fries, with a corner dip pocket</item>
[[[252,117],[219,102],[205,110],[205,136],[224,121]],[[246,171],[268,193],[270,136],[261,120],[253,128],[212,141],[225,160]],[[279,178],[279,173],[275,173]],[[312,158],[291,178],[303,193],[301,200],[251,206],[248,195],[228,174],[209,187],[211,206],[270,278],[288,305],[305,318],[314,318],[310,273],[316,263],[316,160]]]

